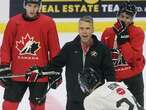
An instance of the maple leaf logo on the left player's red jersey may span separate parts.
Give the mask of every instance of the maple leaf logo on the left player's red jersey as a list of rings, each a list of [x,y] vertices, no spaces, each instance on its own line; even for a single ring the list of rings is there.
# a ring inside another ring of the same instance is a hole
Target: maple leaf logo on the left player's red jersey
[[[16,48],[20,55],[36,55],[40,49],[40,42],[34,41],[34,38],[27,33],[20,41],[16,41]]]

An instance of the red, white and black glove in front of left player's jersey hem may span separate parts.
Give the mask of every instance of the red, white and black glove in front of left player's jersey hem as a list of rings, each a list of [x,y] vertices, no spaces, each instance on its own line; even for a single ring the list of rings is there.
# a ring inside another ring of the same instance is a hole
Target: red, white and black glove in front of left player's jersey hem
[[[28,82],[36,82],[38,78],[43,76],[41,67],[32,66],[29,71],[25,74],[25,78]]]

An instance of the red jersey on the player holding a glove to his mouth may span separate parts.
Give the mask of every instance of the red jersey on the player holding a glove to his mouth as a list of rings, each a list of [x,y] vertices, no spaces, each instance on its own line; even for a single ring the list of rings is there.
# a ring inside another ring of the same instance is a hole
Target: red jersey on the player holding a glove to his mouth
[[[112,27],[106,28],[101,38],[101,41],[111,49],[117,81],[140,74],[145,65],[144,31],[140,27],[130,25],[128,33],[130,41],[120,46],[117,45],[116,34]]]

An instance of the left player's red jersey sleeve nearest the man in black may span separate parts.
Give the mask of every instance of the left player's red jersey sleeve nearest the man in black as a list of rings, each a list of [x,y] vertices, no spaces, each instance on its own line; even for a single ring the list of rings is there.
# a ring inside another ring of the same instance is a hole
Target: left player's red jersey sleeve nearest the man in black
[[[49,51],[50,51],[50,58],[53,59],[58,52],[60,51],[60,45],[59,45],[59,38],[58,33],[56,29],[55,22],[50,19],[49,21],[49,32],[48,32],[48,45],[49,45]]]

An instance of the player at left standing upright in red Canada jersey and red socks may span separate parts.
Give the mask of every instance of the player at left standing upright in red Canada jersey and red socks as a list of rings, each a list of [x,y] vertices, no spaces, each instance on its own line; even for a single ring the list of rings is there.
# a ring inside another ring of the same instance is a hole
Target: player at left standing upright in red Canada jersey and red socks
[[[47,65],[60,51],[55,22],[39,13],[41,0],[24,0],[23,6],[25,12],[10,18],[5,29],[0,52],[0,74],[25,74],[33,65]],[[12,78],[10,85],[5,85],[2,110],[17,110],[27,88],[31,110],[45,110],[45,99],[38,104],[36,97],[44,96],[48,77],[39,78],[35,83],[24,77]]]

